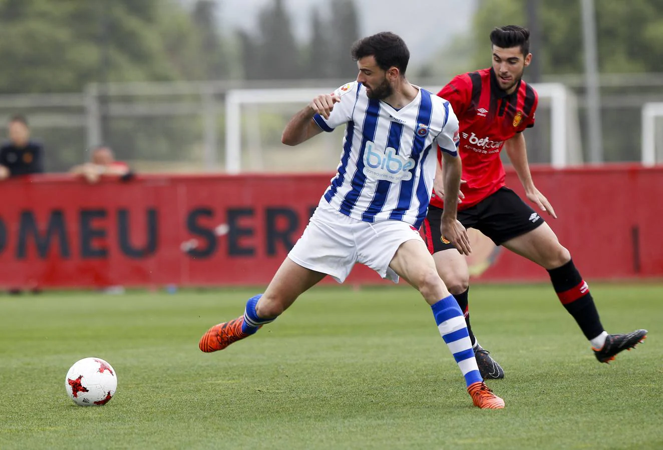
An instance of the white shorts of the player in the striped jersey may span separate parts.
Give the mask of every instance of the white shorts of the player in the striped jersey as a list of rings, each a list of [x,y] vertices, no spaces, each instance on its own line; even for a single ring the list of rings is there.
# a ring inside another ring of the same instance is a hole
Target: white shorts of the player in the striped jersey
[[[400,244],[412,239],[423,242],[407,222],[363,222],[338,212],[323,197],[288,257],[302,267],[331,275],[339,283],[345,281],[355,263],[398,283],[389,263]]]

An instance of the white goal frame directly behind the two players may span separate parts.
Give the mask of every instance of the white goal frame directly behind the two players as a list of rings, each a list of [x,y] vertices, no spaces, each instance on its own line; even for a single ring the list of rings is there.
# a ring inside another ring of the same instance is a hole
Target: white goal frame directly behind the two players
[[[550,101],[550,162],[553,167],[566,167],[581,162],[579,124],[575,97],[562,83],[534,83],[539,103]],[[225,95],[225,170],[240,173],[242,157],[242,107],[275,103],[305,105],[316,95],[333,92],[336,87],[306,89],[231,89]],[[437,92],[439,87],[424,87]]]

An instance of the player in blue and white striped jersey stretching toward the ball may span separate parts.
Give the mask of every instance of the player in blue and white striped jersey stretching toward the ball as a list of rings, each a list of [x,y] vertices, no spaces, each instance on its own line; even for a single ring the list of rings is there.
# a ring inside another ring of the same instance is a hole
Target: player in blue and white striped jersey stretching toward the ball
[[[438,146],[445,189],[457,199],[461,161],[455,115],[447,101],[408,83],[410,53],[396,34],[359,40],[352,56],[359,68],[357,80],[318,95],[288,122],[282,136],[284,144],[296,146],[345,125],[335,177],[265,292],[250,298],[239,318],[210,328],[199,347],[217,351],[251,336],[327,275],[342,283],[359,262],[394,282],[402,277],[421,292],[473,403],[503,408],[504,400],[483,383],[463,312],[418,232],[430,201]],[[441,217],[444,234],[460,253],[469,253],[455,202],[447,206]]]

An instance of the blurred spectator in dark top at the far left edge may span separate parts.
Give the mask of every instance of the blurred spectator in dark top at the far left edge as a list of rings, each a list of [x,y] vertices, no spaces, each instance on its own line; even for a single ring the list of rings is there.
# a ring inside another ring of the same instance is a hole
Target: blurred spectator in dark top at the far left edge
[[[43,172],[42,144],[30,140],[30,128],[25,117],[13,116],[9,121],[9,142],[0,147],[0,180]]]

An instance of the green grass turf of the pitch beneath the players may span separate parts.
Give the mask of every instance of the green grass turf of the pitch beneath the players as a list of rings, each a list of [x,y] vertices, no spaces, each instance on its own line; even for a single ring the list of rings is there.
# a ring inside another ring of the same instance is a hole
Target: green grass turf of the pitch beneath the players
[[[477,286],[473,328],[505,368],[505,410],[472,406],[408,287],[318,287],[256,336],[198,338],[253,291],[0,296],[0,449],[661,449],[663,287],[592,285],[609,332],[648,340],[599,364],[548,285]],[[106,359],[106,406],[66,397]]]

